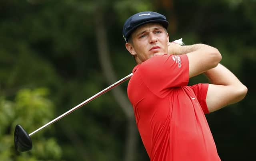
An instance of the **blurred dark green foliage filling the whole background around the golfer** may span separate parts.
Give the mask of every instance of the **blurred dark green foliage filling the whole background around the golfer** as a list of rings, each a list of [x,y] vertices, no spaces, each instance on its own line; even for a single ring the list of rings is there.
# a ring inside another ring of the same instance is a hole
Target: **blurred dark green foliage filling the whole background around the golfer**
[[[131,73],[122,26],[144,10],[166,15],[170,40],[218,48],[221,63],[248,87],[242,102],[206,117],[222,160],[254,157],[255,0],[1,0],[0,161],[123,160],[127,120],[109,92],[32,135],[30,152],[14,150],[13,132],[16,124],[32,132],[109,85],[96,45],[97,12],[117,77]],[[198,82],[207,80],[190,80]],[[137,147],[136,160],[149,160],[141,141]]]

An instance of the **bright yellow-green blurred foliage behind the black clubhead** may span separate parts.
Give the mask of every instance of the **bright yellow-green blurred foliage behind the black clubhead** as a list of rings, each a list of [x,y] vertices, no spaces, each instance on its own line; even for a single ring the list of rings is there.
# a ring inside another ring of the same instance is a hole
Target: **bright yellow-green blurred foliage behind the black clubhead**
[[[20,89],[14,101],[0,98],[0,160],[1,161],[58,161],[62,149],[54,137],[44,139],[44,133],[33,136],[35,150],[18,154],[14,149],[14,128],[22,125],[27,132],[32,132],[53,117],[54,106],[46,88]],[[47,131],[47,130],[46,130]]]

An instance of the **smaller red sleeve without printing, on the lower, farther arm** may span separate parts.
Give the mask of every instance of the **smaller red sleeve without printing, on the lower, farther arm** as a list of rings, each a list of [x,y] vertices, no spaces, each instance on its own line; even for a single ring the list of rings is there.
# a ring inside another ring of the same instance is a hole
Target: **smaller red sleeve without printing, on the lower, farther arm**
[[[204,111],[204,114],[208,114],[209,110],[206,104],[206,95],[208,91],[208,86],[209,84],[207,83],[200,83],[200,84],[195,84],[192,87],[194,90],[194,93],[196,94],[196,98],[198,102],[200,103],[202,110]]]

